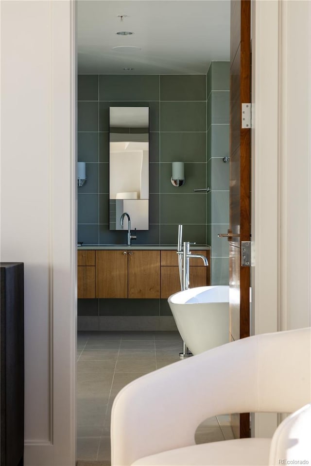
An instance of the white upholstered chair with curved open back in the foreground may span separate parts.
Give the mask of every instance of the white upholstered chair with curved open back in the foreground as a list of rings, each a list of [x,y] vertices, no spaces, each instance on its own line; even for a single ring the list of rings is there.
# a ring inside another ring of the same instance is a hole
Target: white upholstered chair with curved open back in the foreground
[[[112,466],[279,465],[277,455],[292,442],[285,435],[290,428],[279,427],[273,440],[201,445],[195,445],[194,433],[212,416],[293,413],[310,403],[310,372],[311,329],[306,328],[244,338],[140,377],[113,404]],[[310,430],[310,416],[304,422]]]

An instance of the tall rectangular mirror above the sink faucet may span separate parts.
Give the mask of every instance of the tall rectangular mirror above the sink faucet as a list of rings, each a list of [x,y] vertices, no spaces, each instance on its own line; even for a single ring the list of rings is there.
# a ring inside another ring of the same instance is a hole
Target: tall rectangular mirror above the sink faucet
[[[149,107],[109,107],[109,229],[149,230]]]

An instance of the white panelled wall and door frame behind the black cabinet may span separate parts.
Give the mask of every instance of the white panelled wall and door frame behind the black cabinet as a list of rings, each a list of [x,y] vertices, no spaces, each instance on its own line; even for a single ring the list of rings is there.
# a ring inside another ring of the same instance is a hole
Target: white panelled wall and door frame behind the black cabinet
[[[1,261],[25,264],[25,465],[75,450],[74,15],[1,1]]]

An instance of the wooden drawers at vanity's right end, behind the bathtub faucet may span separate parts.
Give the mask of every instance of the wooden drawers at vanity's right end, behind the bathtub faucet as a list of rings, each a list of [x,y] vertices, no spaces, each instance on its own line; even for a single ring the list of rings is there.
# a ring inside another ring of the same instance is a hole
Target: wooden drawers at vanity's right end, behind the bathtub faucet
[[[190,259],[190,288],[207,286],[210,284],[210,251],[193,251],[207,257],[208,266],[204,266],[202,259]],[[161,251],[161,298],[167,299],[173,293],[180,291],[178,256],[176,251]]]

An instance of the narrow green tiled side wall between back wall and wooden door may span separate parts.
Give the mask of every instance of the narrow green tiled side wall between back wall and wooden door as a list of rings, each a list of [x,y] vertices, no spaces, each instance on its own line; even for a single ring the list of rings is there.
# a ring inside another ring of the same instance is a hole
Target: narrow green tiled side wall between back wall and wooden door
[[[211,246],[211,284],[229,283],[229,62],[212,62],[207,72],[207,244]]]

